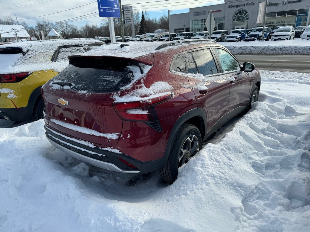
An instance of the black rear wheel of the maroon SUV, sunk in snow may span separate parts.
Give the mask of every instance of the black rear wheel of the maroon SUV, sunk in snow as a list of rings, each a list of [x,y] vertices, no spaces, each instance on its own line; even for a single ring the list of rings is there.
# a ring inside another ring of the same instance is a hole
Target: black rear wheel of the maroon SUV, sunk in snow
[[[187,163],[188,159],[201,148],[202,141],[198,128],[187,123],[182,125],[175,136],[166,165],[159,170],[162,178],[172,184],[177,179],[179,167]]]

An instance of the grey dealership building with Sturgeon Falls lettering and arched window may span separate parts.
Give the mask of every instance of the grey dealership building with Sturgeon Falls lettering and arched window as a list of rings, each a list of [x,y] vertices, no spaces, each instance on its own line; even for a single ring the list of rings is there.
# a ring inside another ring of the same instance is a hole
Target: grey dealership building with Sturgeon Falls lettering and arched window
[[[190,8],[189,13],[170,15],[170,32],[206,31],[206,18],[212,9],[215,19],[214,30],[228,30],[263,26],[256,23],[259,3],[263,0],[225,0],[225,3]],[[268,0],[266,27],[306,26],[310,19],[310,0]],[[264,10],[264,9],[263,9]]]

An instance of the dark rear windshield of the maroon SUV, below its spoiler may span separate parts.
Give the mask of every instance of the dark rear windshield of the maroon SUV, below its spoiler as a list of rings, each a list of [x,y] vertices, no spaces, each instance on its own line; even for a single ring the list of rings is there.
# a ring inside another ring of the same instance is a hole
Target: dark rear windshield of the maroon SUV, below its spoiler
[[[116,92],[134,80],[139,64],[122,59],[75,59],[51,84],[54,87],[96,93]]]

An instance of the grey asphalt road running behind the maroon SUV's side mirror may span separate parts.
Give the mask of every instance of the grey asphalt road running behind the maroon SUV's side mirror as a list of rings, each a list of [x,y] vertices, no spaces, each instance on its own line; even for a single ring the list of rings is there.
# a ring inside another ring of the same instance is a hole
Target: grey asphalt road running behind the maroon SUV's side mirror
[[[238,60],[255,64],[255,67],[270,71],[310,73],[309,55],[256,55],[236,54]]]

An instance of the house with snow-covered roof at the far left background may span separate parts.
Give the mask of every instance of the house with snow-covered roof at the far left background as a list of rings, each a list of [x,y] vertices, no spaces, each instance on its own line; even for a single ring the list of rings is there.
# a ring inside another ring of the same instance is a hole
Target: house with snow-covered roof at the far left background
[[[22,25],[0,24],[0,42],[13,42],[15,40],[15,32],[19,39],[24,39],[25,41],[30,37]]]

